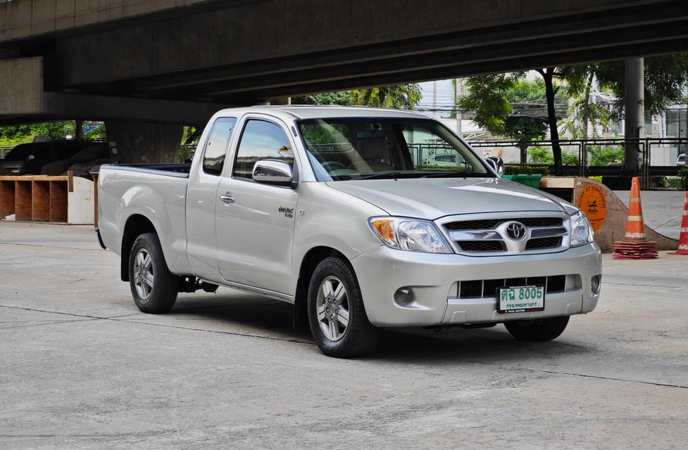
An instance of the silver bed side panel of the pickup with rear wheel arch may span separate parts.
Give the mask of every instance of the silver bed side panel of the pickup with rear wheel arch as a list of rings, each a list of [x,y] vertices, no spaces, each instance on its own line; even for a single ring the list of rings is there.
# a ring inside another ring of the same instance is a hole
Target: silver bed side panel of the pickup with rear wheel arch
[[[185,218],[187,184],[187,178],[155,171],[101,168],[99,229],[105,245],[119,255],[127,219],[140,214],[155,227],[170,271],[189,274]]]

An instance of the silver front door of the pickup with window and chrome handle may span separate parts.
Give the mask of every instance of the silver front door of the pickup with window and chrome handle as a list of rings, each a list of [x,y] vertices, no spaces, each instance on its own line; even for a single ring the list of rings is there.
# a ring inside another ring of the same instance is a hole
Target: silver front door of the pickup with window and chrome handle
[[[289,294],[298,194],[256,183],[251,175],[259,160],[282,160],[296,172],[293,148],[284,124],[262,117],[244,122],[231,174],[220,180],[216,200],[218,269],[225,280]]]

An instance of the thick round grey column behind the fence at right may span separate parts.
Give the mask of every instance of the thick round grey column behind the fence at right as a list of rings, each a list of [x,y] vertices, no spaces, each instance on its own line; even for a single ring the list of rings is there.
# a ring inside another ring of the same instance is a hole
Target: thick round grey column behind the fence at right
[[[624,137],[625,139],[643,139],[645,137],[644,107],[644,60],[634,58],[625,60],[624,71]],[[635,174],[640,172],[640,143],[625,141],[622,172]]]

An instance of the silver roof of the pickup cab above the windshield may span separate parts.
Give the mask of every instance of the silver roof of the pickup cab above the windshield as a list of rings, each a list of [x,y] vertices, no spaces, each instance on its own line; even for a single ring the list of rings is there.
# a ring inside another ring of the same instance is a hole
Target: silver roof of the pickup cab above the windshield
[[[218,114],[246,114],[246,113],[287,114],[296,119],[325,119],[334,117],[399,117],[427,119],[427,115],[408,110],[394,110],[389,108],[372,108],[370,106],[338,106],[338,105],[269,105],[249,106],[246,108],[228,108]]]

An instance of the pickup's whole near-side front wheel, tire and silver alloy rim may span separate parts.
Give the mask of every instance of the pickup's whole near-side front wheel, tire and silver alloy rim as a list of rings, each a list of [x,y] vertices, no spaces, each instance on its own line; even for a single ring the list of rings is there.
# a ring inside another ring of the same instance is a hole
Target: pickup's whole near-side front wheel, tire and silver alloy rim
[[[380,330],[365,314],[354,271],[339,257],[323,259],[313,271],[308,322],[315,343],[327,356],[361,356],[373,352],[380,340]]]

